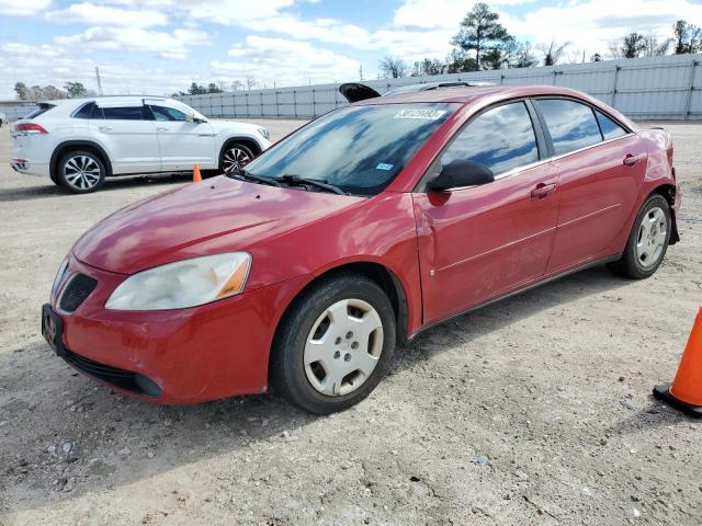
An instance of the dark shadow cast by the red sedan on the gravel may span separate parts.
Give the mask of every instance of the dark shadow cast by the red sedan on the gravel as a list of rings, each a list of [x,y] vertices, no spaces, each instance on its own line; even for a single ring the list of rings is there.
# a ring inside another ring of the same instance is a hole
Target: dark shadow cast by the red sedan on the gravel
[[[612,293],[627,283],[596,267],[461,316],[399,348],[390,374],[403,374],[419,362],[543,310]],[[286,433],[294,434],[321,419],[270,395],[189,407],[155,405],[94,386],[54,357],[38,338],[27,342],[22,352],[14,351],[0,354],[0,385],[4,386],[0,390],[0,420],[7,421],[4,437],[0,434],[0,479],[13,489],[13,511],[126,485],[225,453],[244,454],[253,443],[285,441]],[[645,422],[664,416],[661,413]],[[620,425],[626,430],[637,424],[633,419]],[[16,436],[13,448],[21,441],[22,453],[11,457],[2,453],[8,449],[2,443],[12,441],[12,435]],[[65,442],[72,444],[67,454],[61,450]],[[52,444],[55,451],[47,453]],[[158,461],[151,461],[154,457]],[[60,491],[56,480],[70,477],[77,479],[72,491]],[[48,501],[47,494],[52,495]]]

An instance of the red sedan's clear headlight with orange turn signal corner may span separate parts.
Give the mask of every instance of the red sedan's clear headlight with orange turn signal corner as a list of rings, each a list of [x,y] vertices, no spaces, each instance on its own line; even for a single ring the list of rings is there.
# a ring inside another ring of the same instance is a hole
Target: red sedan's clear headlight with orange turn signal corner
[[[111,310],[184,309],[244,290],[251,254],[229,252],[177,261],[127,277],[105,304]]]

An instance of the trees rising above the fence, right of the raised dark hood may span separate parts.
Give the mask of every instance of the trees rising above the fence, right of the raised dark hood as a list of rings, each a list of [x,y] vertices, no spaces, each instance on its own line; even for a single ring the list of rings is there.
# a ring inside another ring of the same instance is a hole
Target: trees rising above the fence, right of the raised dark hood
[[[570,42],[532,48],[530,42],[520,42],[510,35],[499,22],[499,13],[490,11],[487,3],[478,2],[461,21],[458,33],[451,39],[453,49],[445,58],[424,58],[408,65],[398,57],[387,56],[380,61],[384,78],[422,77],[444,73],[462,73],[503,68],[530,68],[540,60],[534,50],[543,55],[543,66],[554,66],[562,61],[585,62],[585,52],[573,50]],[[702,52],[702,28],[684,20],[672,26],[672,36],[659,39],[653,34],[632,32],[610,44],[613,58],[637,58],[669,53],[681,55]],[[598,62],[603,56],[596,53],[587,61]]]

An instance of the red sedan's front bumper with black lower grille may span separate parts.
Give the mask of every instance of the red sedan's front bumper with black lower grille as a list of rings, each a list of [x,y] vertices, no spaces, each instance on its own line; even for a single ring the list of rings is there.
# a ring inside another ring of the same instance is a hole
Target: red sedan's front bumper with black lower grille
[[[106,310],[126,277],[71,256],[69,272],[98,281],[63,323],[64,359],[112,389],[165,404],[196,403],[267,390],[275,327],[302,288],[299,277],[213,304],[169,311]]]

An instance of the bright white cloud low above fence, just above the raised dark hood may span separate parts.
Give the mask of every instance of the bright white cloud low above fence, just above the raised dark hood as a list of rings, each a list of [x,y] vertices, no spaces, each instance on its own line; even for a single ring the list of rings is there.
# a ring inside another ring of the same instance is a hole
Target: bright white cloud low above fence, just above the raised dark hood
[[[359,62],[307,42],[250,35],[246,44],[229,49],[233,60],[211,62],[213,75],[226,81],[253,77],[262,87],[291,85],[310,80],[333,82],[354,78]]]

